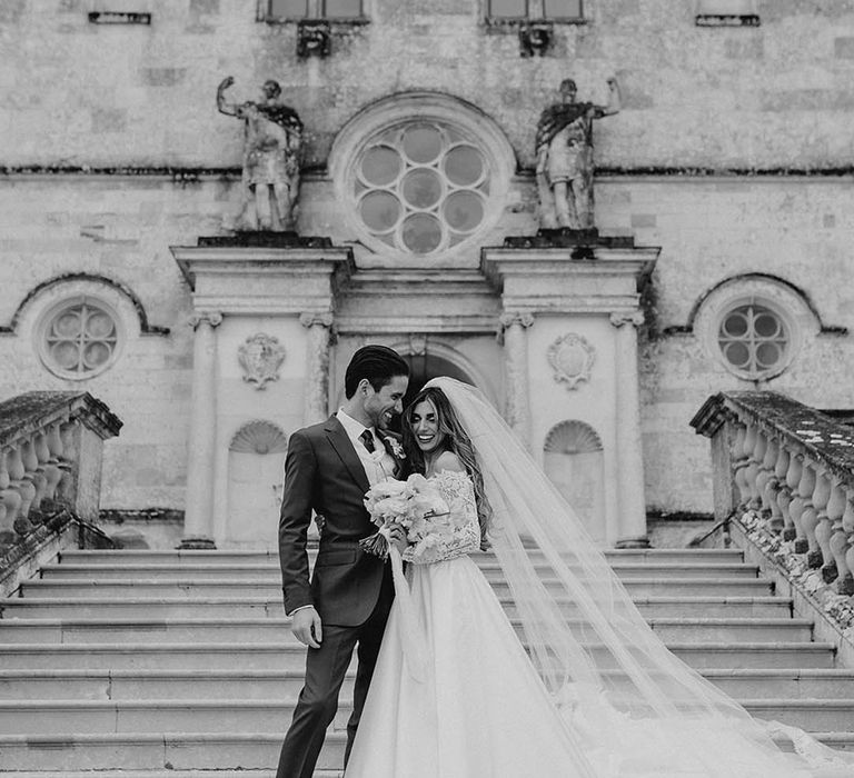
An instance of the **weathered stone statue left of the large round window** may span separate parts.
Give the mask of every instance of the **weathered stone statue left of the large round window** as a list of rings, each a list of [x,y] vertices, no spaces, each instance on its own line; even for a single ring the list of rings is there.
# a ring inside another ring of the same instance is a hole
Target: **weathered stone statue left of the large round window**
[[[217,89],[220,113],[244,120],[244,203],[238,229],[289,230],[294,228],[299,196],[299,150],[302,122],[280,101],[281,87],[265,81],[260,102],[227,103],[230,76]]]

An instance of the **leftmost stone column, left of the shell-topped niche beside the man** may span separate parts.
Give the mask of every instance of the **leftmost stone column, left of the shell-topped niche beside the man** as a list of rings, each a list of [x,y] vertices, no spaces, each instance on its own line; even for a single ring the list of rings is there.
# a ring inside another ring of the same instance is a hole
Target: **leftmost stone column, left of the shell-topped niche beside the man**
[[[190,445],[187,455],[187,506],[183,538],[179,548],[216,548],[211,537],[214,518],[214,458],[217,442],[217,335],[222,315],[197,312],[190,319],[196,330],[192,350]]]

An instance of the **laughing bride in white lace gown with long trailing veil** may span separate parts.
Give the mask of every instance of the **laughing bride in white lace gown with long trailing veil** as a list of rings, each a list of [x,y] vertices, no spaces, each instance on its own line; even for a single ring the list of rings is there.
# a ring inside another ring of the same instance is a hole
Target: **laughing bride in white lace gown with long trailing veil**
[[[415,471],[457,519],[405,549],[346,778],[853,776],[674,657],[578,518],[473,387],[431,380],[404,417]],[[510,620],[469,555],[486,543]],[[788,738],[785,754],[773,736]]]

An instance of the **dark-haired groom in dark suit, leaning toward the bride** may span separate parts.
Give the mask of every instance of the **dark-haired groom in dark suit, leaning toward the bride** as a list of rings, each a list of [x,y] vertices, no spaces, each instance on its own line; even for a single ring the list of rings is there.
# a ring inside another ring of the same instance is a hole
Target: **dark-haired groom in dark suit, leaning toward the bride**
[[[409,366],[385,346],[365,346],[345,375],[344,406],[288,442],[279,519],[279,561],[291,631],[308,646],[306,684],[285,737],[277,778],[311,778],[352,650],[358,667],[345,765],[377,661],[394,587],[389,566],[359,540],[376,529],[365,492],[399,469],[403,449],[388,432],[403,413]],[[322,516],[309,581],[306,536],[311,511]]]

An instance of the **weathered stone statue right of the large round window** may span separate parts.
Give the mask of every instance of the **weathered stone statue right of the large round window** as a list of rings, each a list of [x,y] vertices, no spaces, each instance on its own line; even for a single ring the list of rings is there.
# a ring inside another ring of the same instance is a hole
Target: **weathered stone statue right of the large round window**
[[[593,120],[619,111],[619,87],[608,81],[607,106],[576,102],[575,81],[560,82],[560,102],[546,108],[537,122],[537,189],[540,226],[592,229]]]

